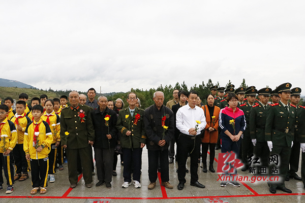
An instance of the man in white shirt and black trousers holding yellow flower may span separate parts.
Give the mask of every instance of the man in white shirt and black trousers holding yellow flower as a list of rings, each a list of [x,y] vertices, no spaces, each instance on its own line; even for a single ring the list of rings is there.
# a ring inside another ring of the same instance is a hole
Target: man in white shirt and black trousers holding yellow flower
[[[178,154],[178,190],[186,183],[186,162],[188,153],[191,154],[191,185],[205,188],[198,182],[198,157],[200,156],[200,131],[206,125],[203,109],[196,106],[197,92],[191,90],[188,94],[188,104],[181,107],[176,114],[176,127],[180,130],[177,141]]]

